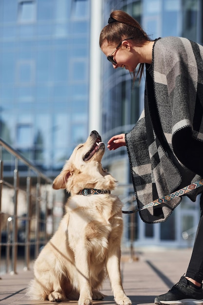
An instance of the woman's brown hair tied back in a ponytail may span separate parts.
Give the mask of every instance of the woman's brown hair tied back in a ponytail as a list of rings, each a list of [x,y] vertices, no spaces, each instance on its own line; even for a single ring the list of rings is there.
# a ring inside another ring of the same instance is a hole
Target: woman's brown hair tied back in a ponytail
[[[131,38],[137,46],[144,45],[147,41],[151,41],[146,32],[143,30],[139,22],[132,18],[124,11],[111,12],[108,24],[102,29],[99,37],[99,45],[107,41],[110,44],[118,45],[123,39]],[[144,63],[140,63],[137,74],[133,72],[133,82],[140,74],[140,80],[144,71]]]

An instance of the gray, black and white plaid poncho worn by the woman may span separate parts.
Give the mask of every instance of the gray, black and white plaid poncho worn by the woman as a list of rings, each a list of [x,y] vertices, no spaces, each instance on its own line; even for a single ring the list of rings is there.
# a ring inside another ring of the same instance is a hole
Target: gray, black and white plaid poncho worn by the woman
[[[145,111],[126,134],[139,208],[203,177],[203,46],[186,38],[155,41],[146,64]],[[196,200],[203,187],[187,196]],[[175,198],[140,211],[147,223],[163,222]]]

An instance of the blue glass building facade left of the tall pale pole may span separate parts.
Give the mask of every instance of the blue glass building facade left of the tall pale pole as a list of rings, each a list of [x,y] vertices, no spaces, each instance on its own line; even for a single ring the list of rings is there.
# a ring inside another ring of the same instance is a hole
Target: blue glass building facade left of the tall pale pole
[[[88,135],[89,48],[90,0],[0,0],[0,137],[51,177]]]

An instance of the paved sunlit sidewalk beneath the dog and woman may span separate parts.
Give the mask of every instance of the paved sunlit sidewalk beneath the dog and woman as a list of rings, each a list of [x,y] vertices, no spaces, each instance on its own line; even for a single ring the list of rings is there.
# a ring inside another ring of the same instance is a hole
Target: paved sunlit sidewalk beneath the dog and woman
[[[154,298],[165,293],[185,273],[191,249],[140,249],[137,261],[130,262],[128,255],[122,256],[121,270],[123,286],[133,305],[153,305]],[[18,271],[16,275],[4,274],[0,280],[0,305],[58,304],[49,301],[30,301],[26,287],[33,278],[32,270]],[[106,297],[93,301],[94,305],[115,304],[108,280],[101,290]],[[77,305],[77,302],[62,302]]]

